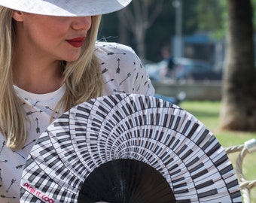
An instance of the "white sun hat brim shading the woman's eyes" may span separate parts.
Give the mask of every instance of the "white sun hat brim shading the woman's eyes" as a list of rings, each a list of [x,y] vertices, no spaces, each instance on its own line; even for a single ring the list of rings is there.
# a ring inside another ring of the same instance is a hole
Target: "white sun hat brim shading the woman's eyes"
[[[125,8],[132,0],[0,0],[17,11],[60,17],[108,14]]]

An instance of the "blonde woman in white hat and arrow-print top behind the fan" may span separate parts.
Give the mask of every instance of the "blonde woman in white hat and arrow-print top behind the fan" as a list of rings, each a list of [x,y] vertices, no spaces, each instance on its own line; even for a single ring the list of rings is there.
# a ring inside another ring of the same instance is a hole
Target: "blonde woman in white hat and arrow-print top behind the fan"
[[[96,42],[100,15],[129,3],[0,0],[0,202],[19,202],[29,151],[64,111],[101,95],[154,95],[130,47]]]

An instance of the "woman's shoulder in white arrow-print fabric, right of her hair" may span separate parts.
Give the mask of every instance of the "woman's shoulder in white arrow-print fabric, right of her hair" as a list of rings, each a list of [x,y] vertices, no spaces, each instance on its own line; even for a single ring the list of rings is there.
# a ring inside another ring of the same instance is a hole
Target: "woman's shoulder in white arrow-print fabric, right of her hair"
[[[104,95],[118,92],[153,95],[154,88],[148,74],[131,47],[97,42],[96,56],[102,68]]]

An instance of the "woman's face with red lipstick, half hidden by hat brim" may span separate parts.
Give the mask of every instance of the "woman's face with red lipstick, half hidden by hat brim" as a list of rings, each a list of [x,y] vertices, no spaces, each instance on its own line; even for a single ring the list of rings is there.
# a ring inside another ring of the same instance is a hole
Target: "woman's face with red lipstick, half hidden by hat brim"
[[[72,62],[87,40],[91,17],[52,17],[14,11],[17,44],[32,56]],[[29,49],[29,50],[26,50]],[[20,50],[20,49],[19,49]]]

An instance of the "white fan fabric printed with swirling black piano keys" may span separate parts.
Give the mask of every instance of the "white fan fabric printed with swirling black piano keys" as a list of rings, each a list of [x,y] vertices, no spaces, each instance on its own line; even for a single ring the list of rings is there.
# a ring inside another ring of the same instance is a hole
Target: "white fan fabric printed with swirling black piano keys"
[[[176,105],[135,94],[95,98],[52,123],[26,162],[20,202],[76,202],[88,175],[113,159],[154,167],[177,202],[242,202],[212,132]]]

